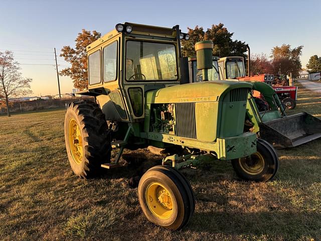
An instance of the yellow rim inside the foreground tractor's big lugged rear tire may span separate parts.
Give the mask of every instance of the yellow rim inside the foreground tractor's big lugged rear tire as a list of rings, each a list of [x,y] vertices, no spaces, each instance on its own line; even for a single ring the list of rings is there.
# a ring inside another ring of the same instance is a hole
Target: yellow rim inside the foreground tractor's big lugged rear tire
[[[75,119],[71,119],[68,124],[68,137],[71,155],[76,164],[82,162],[83,147],[79,126]]]

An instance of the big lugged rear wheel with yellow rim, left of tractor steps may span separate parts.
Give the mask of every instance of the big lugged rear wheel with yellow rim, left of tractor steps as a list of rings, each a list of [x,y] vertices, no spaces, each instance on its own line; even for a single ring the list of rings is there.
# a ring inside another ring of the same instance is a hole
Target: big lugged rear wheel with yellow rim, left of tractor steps
[[[76,176],[100,174],[110,162],[110,131],[99,105],[88,100],[69,104],[65,115],[65,142],[70,166]]]

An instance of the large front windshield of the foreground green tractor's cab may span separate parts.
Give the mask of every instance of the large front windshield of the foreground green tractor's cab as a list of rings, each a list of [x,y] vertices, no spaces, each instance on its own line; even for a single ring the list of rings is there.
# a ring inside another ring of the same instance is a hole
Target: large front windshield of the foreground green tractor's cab
[[[126,80],[177,80],[174,44],[126,42]]]

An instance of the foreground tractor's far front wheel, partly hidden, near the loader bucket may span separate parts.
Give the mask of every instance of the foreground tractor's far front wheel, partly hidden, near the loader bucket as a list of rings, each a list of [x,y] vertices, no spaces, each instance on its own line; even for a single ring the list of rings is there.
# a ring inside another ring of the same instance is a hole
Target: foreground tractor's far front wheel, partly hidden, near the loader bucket
[[[268,142],[257,139],[256,144],[256,153],[232,160],[232,166],[236,174],[243,180],[266,182],[271,180],[278,170],[278,156]]]

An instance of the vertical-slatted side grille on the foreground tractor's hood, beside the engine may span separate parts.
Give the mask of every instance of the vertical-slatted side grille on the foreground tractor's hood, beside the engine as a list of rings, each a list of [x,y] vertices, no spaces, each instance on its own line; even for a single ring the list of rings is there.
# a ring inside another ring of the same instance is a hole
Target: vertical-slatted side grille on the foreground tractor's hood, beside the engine
[[[176,136],[196,139],[195,102],[175,103]]]

